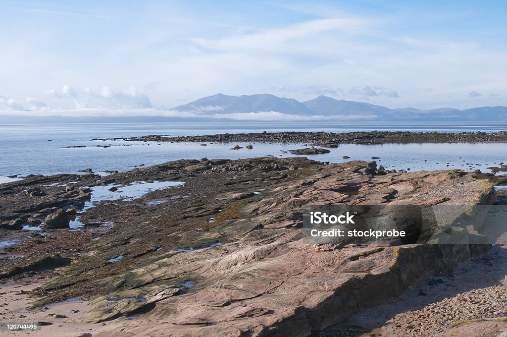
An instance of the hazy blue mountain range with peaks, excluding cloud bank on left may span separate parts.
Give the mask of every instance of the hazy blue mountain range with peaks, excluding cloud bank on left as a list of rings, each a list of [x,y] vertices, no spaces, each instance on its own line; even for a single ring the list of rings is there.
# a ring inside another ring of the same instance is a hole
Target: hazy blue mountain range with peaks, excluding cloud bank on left
[[[364,102],[353,102],[318,96],[306,102],[271,94],[230,96],[216,94],[203,97],[174,110],[202,115],[224,115],[252,112],[278,112],[297,116],[324,116],[329,119],[379,121],[505,121],[507,107],[481,107],[466,110],[439,108],[389,109]],[[224,116],[225,117],[225,116]]]

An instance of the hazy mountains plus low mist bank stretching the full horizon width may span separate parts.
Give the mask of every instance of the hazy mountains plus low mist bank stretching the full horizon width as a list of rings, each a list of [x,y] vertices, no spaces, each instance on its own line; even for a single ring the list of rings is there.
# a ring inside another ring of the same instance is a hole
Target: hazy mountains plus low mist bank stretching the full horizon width
[[[62,115],[64,112],[62,112]],[[116,114],[116,112],[115,112]],[[318,96],[306,102],[271,94],[231,96],[216,94],[173,109],[152,109],[112,115],[0,115],[0,124],[32,123],[158,123],[243,121],[379,121],[379,122],[505,122],[507,107],[479,107],[459,110],[437,108],[421,110],[414,107],[389,109],[350,100]]]

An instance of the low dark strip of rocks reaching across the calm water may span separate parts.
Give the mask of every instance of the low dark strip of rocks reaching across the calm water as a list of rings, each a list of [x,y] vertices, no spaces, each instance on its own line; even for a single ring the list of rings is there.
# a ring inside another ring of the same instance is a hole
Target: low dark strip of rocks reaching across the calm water
[[[138,142],[218,142],[218,143],[298,143],[322,147],[336,147],[338,144],[383,144],[383,143],[461,143],[461,142],[507,142],[507,131],[498,132],[410,132],[410,131],[369,131],[369,132],[259,132],[223,133],[207,136],[149,135],[125,140]]]

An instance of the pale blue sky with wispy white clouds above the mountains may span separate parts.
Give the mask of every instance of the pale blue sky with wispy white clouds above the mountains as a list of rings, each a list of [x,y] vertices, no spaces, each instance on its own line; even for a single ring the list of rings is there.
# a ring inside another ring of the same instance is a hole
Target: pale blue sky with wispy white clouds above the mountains
[[[219,92],[507,105],[505,0],[0,0],[0,46],[4,115],[157,115]]]

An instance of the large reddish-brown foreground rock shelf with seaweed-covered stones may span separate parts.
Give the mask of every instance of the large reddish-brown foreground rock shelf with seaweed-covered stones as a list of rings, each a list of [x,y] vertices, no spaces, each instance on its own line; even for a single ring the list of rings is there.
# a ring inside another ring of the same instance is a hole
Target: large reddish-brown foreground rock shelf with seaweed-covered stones
[[[184,184],[89,204],[94,193],[121,193],[141,181]],[[308,336],[393,301],[428,276],[451,276],[490,245],[459,228],[449,230],[464,244],[307,244],[304,207],[484,205],[496,202],[493,186],[506,182],[460,170],[400,173],[374,161],[294,157],[178,160],[105,177],[31,176],[0,185],[0,282],[37,282],[30,288],[36,313],[84,298],[88,306],[72,327],[91,324],[93,337]],[[63,225],[27,230],[55,217]],[[67,228],[76,217],[82,226]],[[474,305],[472,297],[459,300]],[[463,317],[485,318],[479,314]],[[420,326],[403,328],[429,335]]]

